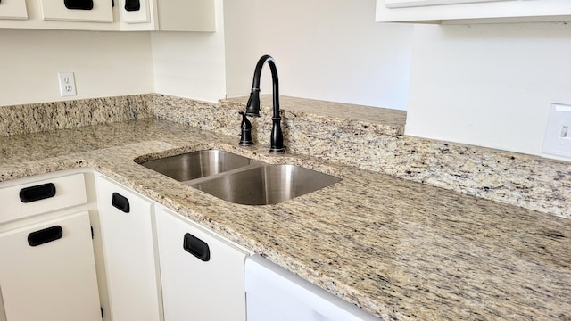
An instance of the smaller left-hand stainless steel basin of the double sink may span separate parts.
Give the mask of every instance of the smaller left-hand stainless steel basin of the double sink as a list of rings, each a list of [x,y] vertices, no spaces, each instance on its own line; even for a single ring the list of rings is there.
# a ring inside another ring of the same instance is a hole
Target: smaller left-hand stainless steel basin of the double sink
[[[188,152],[141,163],[148,169],[153,169],[180,182],[216,175],[250,164],[252,160],[247,157],[219,150]]]

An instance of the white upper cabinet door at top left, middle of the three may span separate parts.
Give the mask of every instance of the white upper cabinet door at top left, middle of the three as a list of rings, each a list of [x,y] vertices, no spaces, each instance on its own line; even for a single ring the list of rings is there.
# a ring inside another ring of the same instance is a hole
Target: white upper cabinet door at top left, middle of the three
[[[41,0],[45,21],[112,22],[111,0]]]

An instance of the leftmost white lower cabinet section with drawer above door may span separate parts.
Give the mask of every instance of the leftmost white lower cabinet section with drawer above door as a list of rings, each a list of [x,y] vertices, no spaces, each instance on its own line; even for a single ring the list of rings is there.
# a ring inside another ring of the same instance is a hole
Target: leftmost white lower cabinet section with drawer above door
[[[0,183],[0,321],[102,319],[93,185],[89,169]]]

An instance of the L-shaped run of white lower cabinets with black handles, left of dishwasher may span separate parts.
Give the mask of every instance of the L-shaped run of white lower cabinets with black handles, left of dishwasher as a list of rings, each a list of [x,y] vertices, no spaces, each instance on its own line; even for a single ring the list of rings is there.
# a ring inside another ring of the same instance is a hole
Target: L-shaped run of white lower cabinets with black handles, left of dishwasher
[[[0,201],[0,321],[246,320],[252,253],[128,187],[67,170]]]

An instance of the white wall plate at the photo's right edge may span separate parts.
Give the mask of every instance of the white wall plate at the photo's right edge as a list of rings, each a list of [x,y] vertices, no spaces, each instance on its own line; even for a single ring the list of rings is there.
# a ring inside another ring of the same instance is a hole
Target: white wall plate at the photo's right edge
[[[543,152],[571,159],[571,105],[551,103]]]

